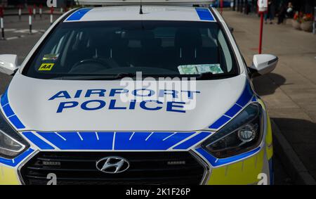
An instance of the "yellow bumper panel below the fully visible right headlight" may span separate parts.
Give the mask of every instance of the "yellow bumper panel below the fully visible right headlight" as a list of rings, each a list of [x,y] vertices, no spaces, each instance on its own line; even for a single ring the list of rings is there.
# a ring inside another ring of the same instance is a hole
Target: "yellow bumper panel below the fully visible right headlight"
[[[264,154],[265,150],[261,150],[246,160],[212,169],[208,184],[256,184],[258,174],[263,172]]]

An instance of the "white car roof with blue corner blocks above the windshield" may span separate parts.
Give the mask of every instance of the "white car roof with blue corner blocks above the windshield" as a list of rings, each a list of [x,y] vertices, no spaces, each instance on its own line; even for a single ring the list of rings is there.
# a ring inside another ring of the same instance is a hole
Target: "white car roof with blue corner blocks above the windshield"
[[[65,19],[65,23],[105,20],[173,20],[216,22],[209,8],[189,6],[105,6],[80,8]]]

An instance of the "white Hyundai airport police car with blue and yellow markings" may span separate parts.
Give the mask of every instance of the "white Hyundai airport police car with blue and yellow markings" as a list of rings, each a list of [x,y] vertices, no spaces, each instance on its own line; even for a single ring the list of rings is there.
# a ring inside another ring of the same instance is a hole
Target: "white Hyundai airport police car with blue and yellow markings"
[[[0,184],[272,184],[251,77],[277,57],[247,68],[206,0],[80,2],[105,6],[62,15],[20,66],[0,56]]]

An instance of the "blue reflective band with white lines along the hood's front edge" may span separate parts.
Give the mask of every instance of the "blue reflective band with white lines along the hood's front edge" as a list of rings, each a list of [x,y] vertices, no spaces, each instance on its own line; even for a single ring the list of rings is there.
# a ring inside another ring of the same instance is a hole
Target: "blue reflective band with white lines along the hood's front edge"
[[[25,131],[22,134],[41,150],[187,150],[211,132]]]

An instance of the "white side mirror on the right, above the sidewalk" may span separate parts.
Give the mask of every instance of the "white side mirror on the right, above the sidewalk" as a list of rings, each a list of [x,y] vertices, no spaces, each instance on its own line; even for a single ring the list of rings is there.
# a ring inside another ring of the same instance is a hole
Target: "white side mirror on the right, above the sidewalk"
[[[272,55],[254,55],[252,65],[249,67],[251,77],[257,77],[259,75],[265,75],[277,67],[277,62],[279,58]]]

